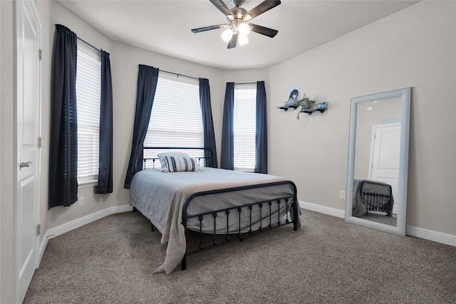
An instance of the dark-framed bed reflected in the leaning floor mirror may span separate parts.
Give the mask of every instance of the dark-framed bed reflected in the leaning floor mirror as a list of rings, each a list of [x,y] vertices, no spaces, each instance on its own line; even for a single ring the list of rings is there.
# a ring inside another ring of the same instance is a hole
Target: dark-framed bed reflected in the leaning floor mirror
[[[393,216],[393,190],[390,184],[355,178],[353,182],[353,216],[368,215],[369,211]]]

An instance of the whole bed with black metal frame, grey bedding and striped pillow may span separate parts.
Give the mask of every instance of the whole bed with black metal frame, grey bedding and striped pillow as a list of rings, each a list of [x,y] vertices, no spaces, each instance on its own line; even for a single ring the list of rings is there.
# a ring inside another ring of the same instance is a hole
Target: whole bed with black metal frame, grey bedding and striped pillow
[[[130,186],[130,205],[151,221],[167,246],[165,261],[155,273],[170,274],[179,264],[185,270],[187,256],[279,226],[293,224],[294,230],[299,229],[294,182],[269,174],[204,167],[201,158],[207,157],[160,154],[146,159],[152,167],[144,164],[150,169],[136,173]],[[157,159],[161,169],[157,169]],[[177,163],[180,169],[176,170]],[[199,242],[187,243],[188,234],[198,234]]]

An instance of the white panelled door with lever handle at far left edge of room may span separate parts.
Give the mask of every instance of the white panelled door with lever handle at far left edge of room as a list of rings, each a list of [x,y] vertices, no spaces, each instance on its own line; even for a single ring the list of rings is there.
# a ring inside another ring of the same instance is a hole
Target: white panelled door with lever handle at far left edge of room
[[[24,300],[38,266],[41,24],[30,0],[16,1],[16,302]]]

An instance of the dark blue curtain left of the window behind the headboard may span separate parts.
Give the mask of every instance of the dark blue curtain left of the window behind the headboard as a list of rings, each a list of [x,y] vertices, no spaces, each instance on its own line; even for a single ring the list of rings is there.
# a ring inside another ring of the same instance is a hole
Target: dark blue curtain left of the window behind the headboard
[[[158,68],[142,64],[139,65],[133,142],[124,184],[124,187],[127,189],[130,189],[133,175],[142,169],[142,145],[144,144],[147,133],[152,103],[154,102],[155,90],[157,89],[158,72]]]

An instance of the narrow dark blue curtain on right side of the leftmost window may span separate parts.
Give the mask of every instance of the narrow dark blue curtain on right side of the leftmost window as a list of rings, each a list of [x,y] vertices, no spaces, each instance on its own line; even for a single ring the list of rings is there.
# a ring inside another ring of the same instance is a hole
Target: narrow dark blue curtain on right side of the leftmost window
[[[100,151],[95,193],[113,193],[113,83],[109,53],[101,50]]]

